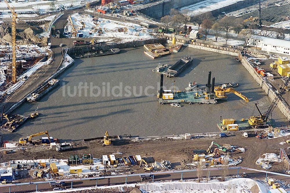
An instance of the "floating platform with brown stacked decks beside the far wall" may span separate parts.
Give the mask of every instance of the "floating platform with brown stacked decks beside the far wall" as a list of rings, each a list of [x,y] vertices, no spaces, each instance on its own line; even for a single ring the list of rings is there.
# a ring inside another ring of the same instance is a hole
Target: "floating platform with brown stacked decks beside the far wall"
[[[153,59],[171,54],[171,52],[160,43],[146,44],[144,48],[144,53]]]

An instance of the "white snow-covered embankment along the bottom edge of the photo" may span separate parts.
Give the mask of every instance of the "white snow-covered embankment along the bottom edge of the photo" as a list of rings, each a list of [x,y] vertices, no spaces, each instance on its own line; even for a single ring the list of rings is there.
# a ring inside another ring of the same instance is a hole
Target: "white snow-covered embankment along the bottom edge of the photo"
[[[217,180],[212,180],[209,182],[201,182],[197,183],[192,180],[188,181],[172,181],[172,182],[155,182],[155,183],[139,183],[139,184],[126,184],[126,185],[112,185],[112,186],[103,186],[103,187],[91,187],[91,188],[76,188],[73,189],[76,192],[82,192],[84,190],[90,191],[104,191],[105,189],[108,191],[113,190],[116,192],[123,192],[125,188],[134,188],[138,187],[138,189],[143,192],[149,193],[228,193],[228,192],[239,192],[239,193],[248,193],[252,192],[251,188],[257,188],[257,193],[266,193],[268,192],[270,186],[265,184],[262,181],[256,181],[248,178],[237,178],[230,179],[224,182],[219,182]],[[47,191],[45,193],[53,193],[53,192],[71,192],[72,190],[63,190],[63,191]]]

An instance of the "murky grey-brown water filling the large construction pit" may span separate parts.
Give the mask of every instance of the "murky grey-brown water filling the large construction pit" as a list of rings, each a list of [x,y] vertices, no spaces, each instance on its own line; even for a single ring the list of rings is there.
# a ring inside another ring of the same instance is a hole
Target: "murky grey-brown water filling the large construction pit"
[[[211,70],[216,84],[238,82],[235,89],[250,102],[228,94],[227,101],[216,105],[185,104],[181,108],[160,105],[156,97],[160,74],[152,69],[159,63],[172,65],[186,55],[194,58],[193,64],[179,77],[164,76],[166,89],[173,89],[174,80],[176,90],[184,90],[190,81],[205,84]],[[39,102],[25,102],[13,112],[29,115],[38,107],[40,116],[28,120],[15,133],[4,133],[5,140],[46,130],[50,136],[65,141],[100,137],[105,131],[110,135],[132,136],[215,132],[219,131],[220,116],[248,118],[258,115],[254,103],[259,102],[262,112],[271,103],[233,56],[191,48],[155,60],[144,54],[143,47],[123,49],[116,55],[77,59],[58,79],[59,86]],[[278,108],[272,118],[277,126],[287,124]]]

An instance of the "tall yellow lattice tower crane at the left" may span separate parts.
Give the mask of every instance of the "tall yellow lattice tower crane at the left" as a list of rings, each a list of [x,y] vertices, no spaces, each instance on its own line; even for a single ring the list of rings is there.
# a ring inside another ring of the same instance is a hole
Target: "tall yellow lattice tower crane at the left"
[[[8,9],[10,9],[12,13],[12,22],[11,22],[11,30],[12,30],[12,83],[16,83],[16,23],[18,21],[17,13],[14,11],[14,7],[11,8],[6,0],[4,0],[7,4]]]

